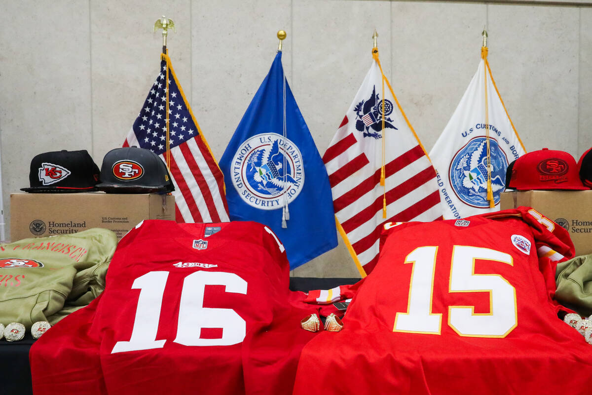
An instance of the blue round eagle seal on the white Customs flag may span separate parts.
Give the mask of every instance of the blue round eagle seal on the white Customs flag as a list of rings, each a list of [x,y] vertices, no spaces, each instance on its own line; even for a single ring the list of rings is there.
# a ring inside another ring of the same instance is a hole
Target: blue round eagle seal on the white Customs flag
[[[508,159],[493,137],[489,139],[491,156],[491,189],[496,204],[506,187]],[[456,197],[472,207],[489,207],[487,200],[487,139],[474,137],[452,158],[450,183]]]

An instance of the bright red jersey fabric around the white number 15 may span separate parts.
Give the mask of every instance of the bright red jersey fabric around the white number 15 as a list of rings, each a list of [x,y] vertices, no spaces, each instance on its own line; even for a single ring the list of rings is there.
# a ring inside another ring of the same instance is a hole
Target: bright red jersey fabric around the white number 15
[[[550,232],[528,210],[469,217],[466,227],[446,220],[404,223],[383,232],[378,264],[350,303],[344,329],[320,333],[303,349],[294,394],[554,394],[565,388],[587,393],[592,348],[558,319],[550,298],[554,283],[545,278],[551,271],[539,267],[556,262],[539,261],[536,251],[536,245],[545,244],[567,259],[573,245],[564,229],[555,226]],[[528,244],[525,240],[531,243],[528,253],[519,248]],[[475,275],[501,276],[515,290],[517,322],[505,337],[461,336],[449,324],[451,306],[474,306],[476,314],[494,308],[488,291],[451,291],[455,245],[457,251],[474,246],[511,256],[511,265],[474,259],[472,266]],[[416,261],[404,262],[413,252],[427,251],[426,246],[437,247],[426,303],[432,314],[442,314],[440,332],[394,332],[397,313],[410,311],[412,271],[421,272],[417,253],[412,255]]]

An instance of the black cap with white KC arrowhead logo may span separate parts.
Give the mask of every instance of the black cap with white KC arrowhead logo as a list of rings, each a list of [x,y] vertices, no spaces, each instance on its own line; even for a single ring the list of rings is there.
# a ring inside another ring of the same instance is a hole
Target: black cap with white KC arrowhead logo
[[[21,191],[90,192],[98,181],[99,168],[86,150],[44,152],[31,160],[31,187]]]

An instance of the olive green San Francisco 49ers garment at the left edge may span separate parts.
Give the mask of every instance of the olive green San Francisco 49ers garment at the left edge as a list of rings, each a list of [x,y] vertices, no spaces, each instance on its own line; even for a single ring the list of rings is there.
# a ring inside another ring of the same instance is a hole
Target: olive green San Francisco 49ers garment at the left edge
[[[0,323],[53,325],[86,306],[104,290],[116,246],[99,228],[0,244]]]

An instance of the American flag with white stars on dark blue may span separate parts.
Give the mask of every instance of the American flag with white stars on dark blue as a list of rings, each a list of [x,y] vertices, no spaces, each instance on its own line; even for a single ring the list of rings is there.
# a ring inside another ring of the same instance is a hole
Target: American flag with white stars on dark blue
[[[138,146],[152,150],[166,162],[167,70],[169,171],[175,185],[175,191],[172,193],[175,196],[176,221],[229,221],[222,172],[202,136],[167,55],[162,56],[160,73],[123,146]]]

